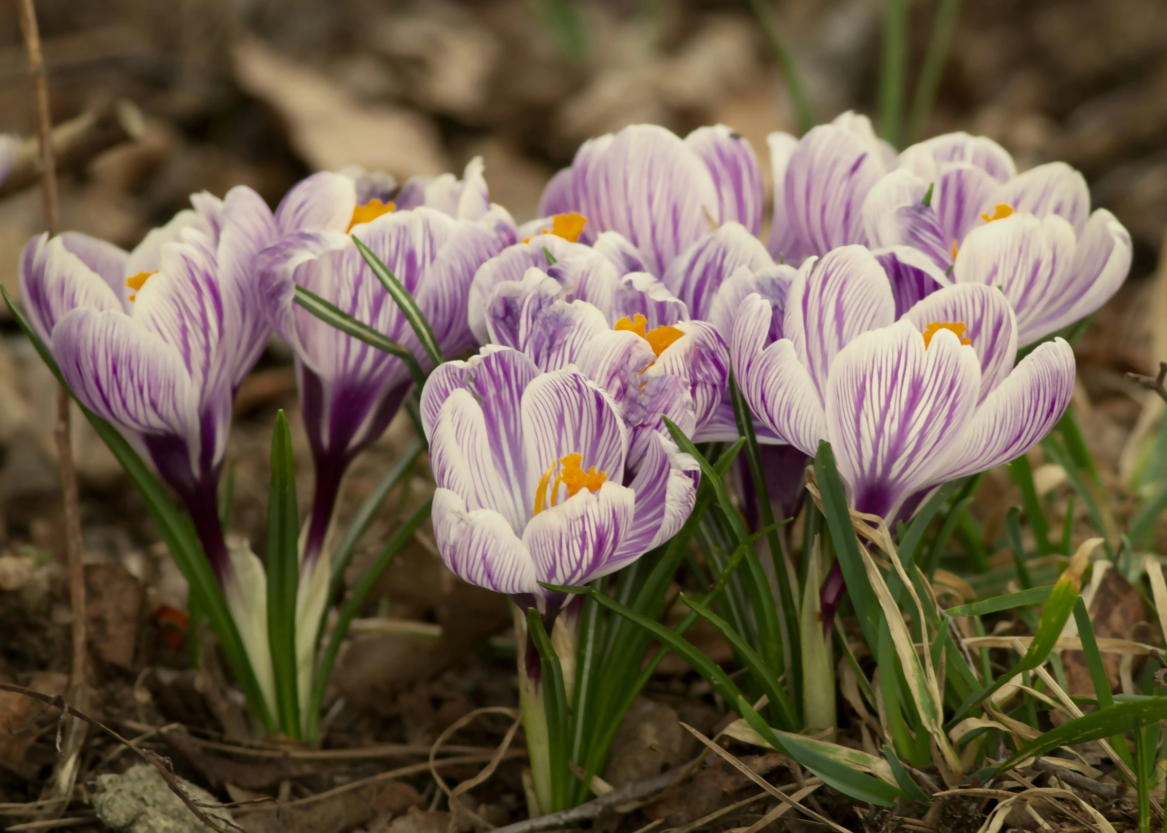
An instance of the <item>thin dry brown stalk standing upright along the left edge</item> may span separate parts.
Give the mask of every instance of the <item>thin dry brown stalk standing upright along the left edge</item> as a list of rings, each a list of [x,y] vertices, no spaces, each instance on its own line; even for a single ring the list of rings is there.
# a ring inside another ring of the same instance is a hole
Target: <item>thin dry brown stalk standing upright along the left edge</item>
[[[41,51],[41,34],[36,24],[33,0],[16,0],[20,12],[20,30],[28,52],[28,69],[33,77],[36,96],[36,133],[41,145],[41,192],[44,201],[44,225],[50,236],[61,231],[61,205],[57,200],[57,168],[53,148],[53,113],[49,108],[49,83],[44,71],[44,55]],[[54,439],[57,446],[57,464],[61,471],[61,492],[65,516],[65,552],[69,560],[69,602],[72,608],[72,668],[69,678],[69,704],[85,710],[85,572],[82,565],[83,542],[81,537],[81,508],[77,499],[77,470],[74,466],[70,444],[69,392],[57,390],[57,424]],[[67,721],[65,740],[61,747],[53,779],[42,794],[49,799],[44,817],[57,818],[64,812],[77,782],[81,765],[81,749],[85,743],[85,722]]]

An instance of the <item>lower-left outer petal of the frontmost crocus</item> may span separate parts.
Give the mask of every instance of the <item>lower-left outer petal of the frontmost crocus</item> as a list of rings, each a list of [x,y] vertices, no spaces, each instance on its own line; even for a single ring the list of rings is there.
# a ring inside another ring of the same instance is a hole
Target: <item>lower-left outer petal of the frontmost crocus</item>
[[[434,541],[441,560],[462,581],[498,593],[543,596],[534,560],[497,512],[466,510],[449,489],[434,491]]]

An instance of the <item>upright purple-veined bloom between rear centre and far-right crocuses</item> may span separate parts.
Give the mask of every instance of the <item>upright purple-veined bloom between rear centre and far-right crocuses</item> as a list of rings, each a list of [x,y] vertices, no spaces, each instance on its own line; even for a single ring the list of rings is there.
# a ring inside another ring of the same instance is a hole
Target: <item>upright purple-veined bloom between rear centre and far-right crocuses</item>
[[[774,172],[770,254],[798,265],[838,246],[866,245],[864,201],[895,160],[871,120],[846,112],[802,139],[771,133],[767,144]]]

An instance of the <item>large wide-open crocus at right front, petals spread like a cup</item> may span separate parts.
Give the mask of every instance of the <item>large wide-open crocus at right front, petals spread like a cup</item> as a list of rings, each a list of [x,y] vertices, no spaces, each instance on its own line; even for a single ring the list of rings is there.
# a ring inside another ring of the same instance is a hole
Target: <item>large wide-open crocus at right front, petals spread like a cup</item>
[[[735,322],[746,400],[806,454],[829,440],[852,508],[889,524],[930,489],[1023,454],[1074,387],[1062,340],[1013,366],[1016,320],[994,287],[942,288],[896,321],[887,275],[861,246],[808,260],[777,317],[752,295]]]

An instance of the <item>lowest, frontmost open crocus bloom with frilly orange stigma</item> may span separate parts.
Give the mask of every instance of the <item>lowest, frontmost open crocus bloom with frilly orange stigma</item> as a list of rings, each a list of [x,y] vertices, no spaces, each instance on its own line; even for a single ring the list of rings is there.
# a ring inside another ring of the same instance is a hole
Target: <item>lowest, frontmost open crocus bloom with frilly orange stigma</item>
[[[685,523],[698,468],[662,434],[628,477],[628,428],[575,370],[543,373],[517,350],[485,346],[438,368],[421,393],[434,539],[460,578],[548,624],[564,603],[539,586],[614,573]]]

